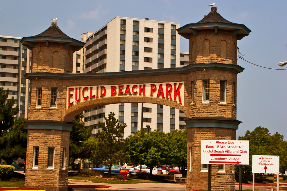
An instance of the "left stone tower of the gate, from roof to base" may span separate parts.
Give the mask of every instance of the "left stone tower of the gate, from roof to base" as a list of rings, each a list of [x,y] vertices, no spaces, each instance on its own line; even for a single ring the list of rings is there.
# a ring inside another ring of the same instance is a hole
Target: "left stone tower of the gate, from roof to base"
[[[39,76],[72,73],[73,53],[85,44],[65,35],[56,22],[41,34],[24,37],[21,42],[32,50],[31,73]],[[61,121],[65,96],[66,88],[61,80],[30,81],[26,187],[67,190],[69,136],[73,124]]]

